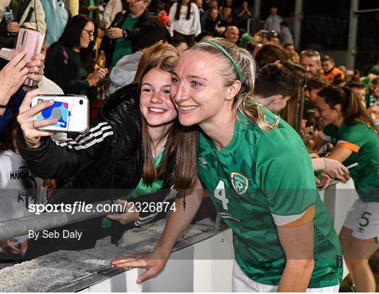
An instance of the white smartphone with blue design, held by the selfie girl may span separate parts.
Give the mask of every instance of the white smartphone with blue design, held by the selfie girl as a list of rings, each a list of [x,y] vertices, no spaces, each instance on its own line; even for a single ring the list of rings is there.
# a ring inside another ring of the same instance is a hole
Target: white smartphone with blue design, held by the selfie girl
[[[36,114],[34,120],[58,119],[58,122],[39,128],[40,131],[61,133],[88,131],[89,102],[85,95],[38,95],[32,99],[32,107],[47,100],[54,100],[54,104]]]

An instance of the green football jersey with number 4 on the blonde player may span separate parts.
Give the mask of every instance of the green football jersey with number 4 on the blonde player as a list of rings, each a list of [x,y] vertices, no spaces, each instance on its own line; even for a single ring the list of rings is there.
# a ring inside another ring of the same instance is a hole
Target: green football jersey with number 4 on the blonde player
[[[277,116],[264,109],[269,121]],[[277,225],[301,219],[314,208],[314,271],[309,288],[338,285],[342,251],[331,217],[314,182],[310,155],[283,120],[263,132],[239,114],[234,137],[218,150],[199,137],[199,178],[222,219],[233,230],[234,255],[254,281],[278,285],[286,265]]]

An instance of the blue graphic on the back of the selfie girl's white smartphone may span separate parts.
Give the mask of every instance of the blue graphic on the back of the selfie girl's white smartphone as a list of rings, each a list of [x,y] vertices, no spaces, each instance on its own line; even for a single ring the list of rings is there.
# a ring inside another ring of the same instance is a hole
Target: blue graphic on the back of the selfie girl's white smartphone
[[[38,104],[47,100],[39,99]],[[51,125],[57,128],[65,129],[67,128],[67,121],[69,116],[69,104],[67,102],[54,101],[51,107],[48,107],[38,114],[36,114],[35,119],[58,119],[58,122]]]

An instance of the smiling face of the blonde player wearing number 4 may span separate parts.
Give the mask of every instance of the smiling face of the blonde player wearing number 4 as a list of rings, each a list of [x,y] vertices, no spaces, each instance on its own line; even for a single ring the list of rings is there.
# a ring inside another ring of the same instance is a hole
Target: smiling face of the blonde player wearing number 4
[[[184,126],[217,122],[230,115],[232,99],[220,74],[222,60],[203,51],[186,51],[175,66],[171,98]],[[217,65],[217,66],[215,66]]]

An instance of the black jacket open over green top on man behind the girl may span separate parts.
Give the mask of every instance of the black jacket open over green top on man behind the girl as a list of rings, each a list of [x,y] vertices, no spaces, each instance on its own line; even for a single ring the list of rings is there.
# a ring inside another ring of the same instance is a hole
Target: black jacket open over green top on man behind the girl
[[[128,14],[128,11],[121,11],[117,13],[110,27],[122,27]],[[149,11],[145,11],[144,13],[142,13],[142,15],[140,15],[140,18],[137,20],[137,22],[135,22],[133,29],[126,29],[126,31],[128,32],[126,39],[131,40],[133,46],[133,53],[138,50],[138,35],[140,34],[141,25],[152,18],[154,18],[154,14],[150,13]],[[116,44],[116,40],[117,39],[109,39],[106,34],[102,38],[99,50],[105,52],[105,57],[107,58],[107,67],[109,67],[109,65],[112,65],[112,55],[114,51],[114,46]]]

